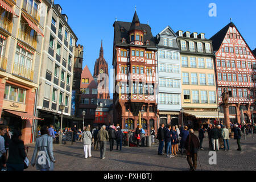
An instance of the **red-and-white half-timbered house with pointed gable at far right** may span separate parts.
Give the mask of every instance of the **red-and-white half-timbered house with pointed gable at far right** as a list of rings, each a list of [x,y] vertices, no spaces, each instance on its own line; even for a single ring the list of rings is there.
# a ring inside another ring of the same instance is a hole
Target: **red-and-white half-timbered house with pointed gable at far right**
[[[250,47],[233,22],[227,24],[210,38],[215,52],[215,66],[218,86],[218,102],[224,111],[222,93],[228,91],[228,108],[225,115],[232,123],[241,122],[243,110],[245,122],[250,122],[251,106],[255,104],[256,60]]]

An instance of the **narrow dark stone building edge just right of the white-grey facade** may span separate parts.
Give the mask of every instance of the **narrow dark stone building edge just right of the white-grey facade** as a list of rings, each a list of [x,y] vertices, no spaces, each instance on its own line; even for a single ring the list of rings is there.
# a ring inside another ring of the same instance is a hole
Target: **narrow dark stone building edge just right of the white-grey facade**
[[[80,44],[75,47],[75,59],[74,59],[74,69],[73,69],[73,85],[72,85],[72,100],[71,100],[71,115],[73,122],[79,125],[79,105],[80,105],[80,85],[81,85],[81,74],[82,74],[82,62],[84,56],[84,46]]]

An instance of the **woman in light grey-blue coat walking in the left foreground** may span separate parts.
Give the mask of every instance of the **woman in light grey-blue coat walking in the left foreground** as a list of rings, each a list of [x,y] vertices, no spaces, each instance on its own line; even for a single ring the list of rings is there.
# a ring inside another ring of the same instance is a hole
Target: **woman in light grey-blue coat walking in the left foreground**
[[[47,126],[42,126],[41,137],[36,138],[35,150],[31,159],[31,165],[34,167],[36,164],[37,170],[53,171],[56,160],[53,156],[52,140],[52,137],[49,136]]]

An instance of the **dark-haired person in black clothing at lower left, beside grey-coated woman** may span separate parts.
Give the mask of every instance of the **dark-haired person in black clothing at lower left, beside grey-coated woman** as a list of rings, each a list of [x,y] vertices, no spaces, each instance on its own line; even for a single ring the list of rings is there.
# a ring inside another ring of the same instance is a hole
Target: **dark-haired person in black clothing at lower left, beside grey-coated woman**
[[[6,162],[7,171],[23,171],[24,160],[26,159],[27,146],[20,140],[21,133],[18,130],[13,131],[13,136],[9,145],[9,156]]]

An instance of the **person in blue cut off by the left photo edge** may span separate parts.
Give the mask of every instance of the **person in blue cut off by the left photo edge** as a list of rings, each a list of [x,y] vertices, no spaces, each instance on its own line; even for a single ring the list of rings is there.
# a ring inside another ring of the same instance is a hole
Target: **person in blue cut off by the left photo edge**
[[[6,150],[5,150],[5,136],[7,127],[5,125],[0,126],[0,171],[6,168]]]

